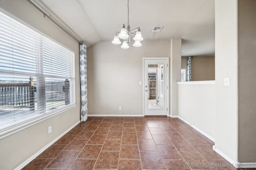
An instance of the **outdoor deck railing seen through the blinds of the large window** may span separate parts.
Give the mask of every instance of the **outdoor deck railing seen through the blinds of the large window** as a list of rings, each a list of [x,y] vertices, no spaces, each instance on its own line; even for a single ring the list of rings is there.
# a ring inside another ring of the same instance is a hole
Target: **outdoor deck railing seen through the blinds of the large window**
[[[51,82],[46,84],[46,102],[65,101],[70,104],[70,82]],[[28,83],[0,84],[0,106],[19,106],[35,109],[36,85],[33,79]]]

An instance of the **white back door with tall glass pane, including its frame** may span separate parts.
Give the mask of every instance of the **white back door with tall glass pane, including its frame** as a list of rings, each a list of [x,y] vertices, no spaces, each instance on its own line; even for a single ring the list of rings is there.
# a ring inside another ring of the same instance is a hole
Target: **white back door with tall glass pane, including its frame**
[[[168,115],[169,58],[143,58],[143,113]]]

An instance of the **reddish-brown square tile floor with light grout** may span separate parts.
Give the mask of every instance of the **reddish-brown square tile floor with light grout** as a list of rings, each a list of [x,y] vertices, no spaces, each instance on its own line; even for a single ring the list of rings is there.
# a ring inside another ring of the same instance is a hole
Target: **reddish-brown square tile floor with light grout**
[[[178,118],[88,117],[23,169],[236,169],[212,145]]]

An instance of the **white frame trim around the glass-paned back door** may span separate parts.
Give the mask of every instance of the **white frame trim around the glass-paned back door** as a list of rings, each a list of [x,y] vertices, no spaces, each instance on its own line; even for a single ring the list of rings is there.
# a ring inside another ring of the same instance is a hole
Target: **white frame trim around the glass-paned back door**
[[[166,99],[167,99],[167,110],[166,110],[166,115],[169,115],[169,81],[170,81],[170,77],[169,77],[169,72],[170,72],[170,68],[169,68],[169,57],[143,57],[142,58],[142,113],[143,116],[145,116],[145,77],[144,77],[144,65],[145,65],[145,60],[167,60],[167,81],[166,81],[166,85],[167,85],[167,89],[164,90],[165,91],[165,95],[166,95]]]

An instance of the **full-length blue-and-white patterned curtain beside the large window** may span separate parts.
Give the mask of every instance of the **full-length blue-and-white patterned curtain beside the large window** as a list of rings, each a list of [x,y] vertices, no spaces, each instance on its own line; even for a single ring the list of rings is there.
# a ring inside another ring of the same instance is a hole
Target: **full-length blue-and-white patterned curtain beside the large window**
[[[80,44],[81,122],[87,120],[86,44]]]

